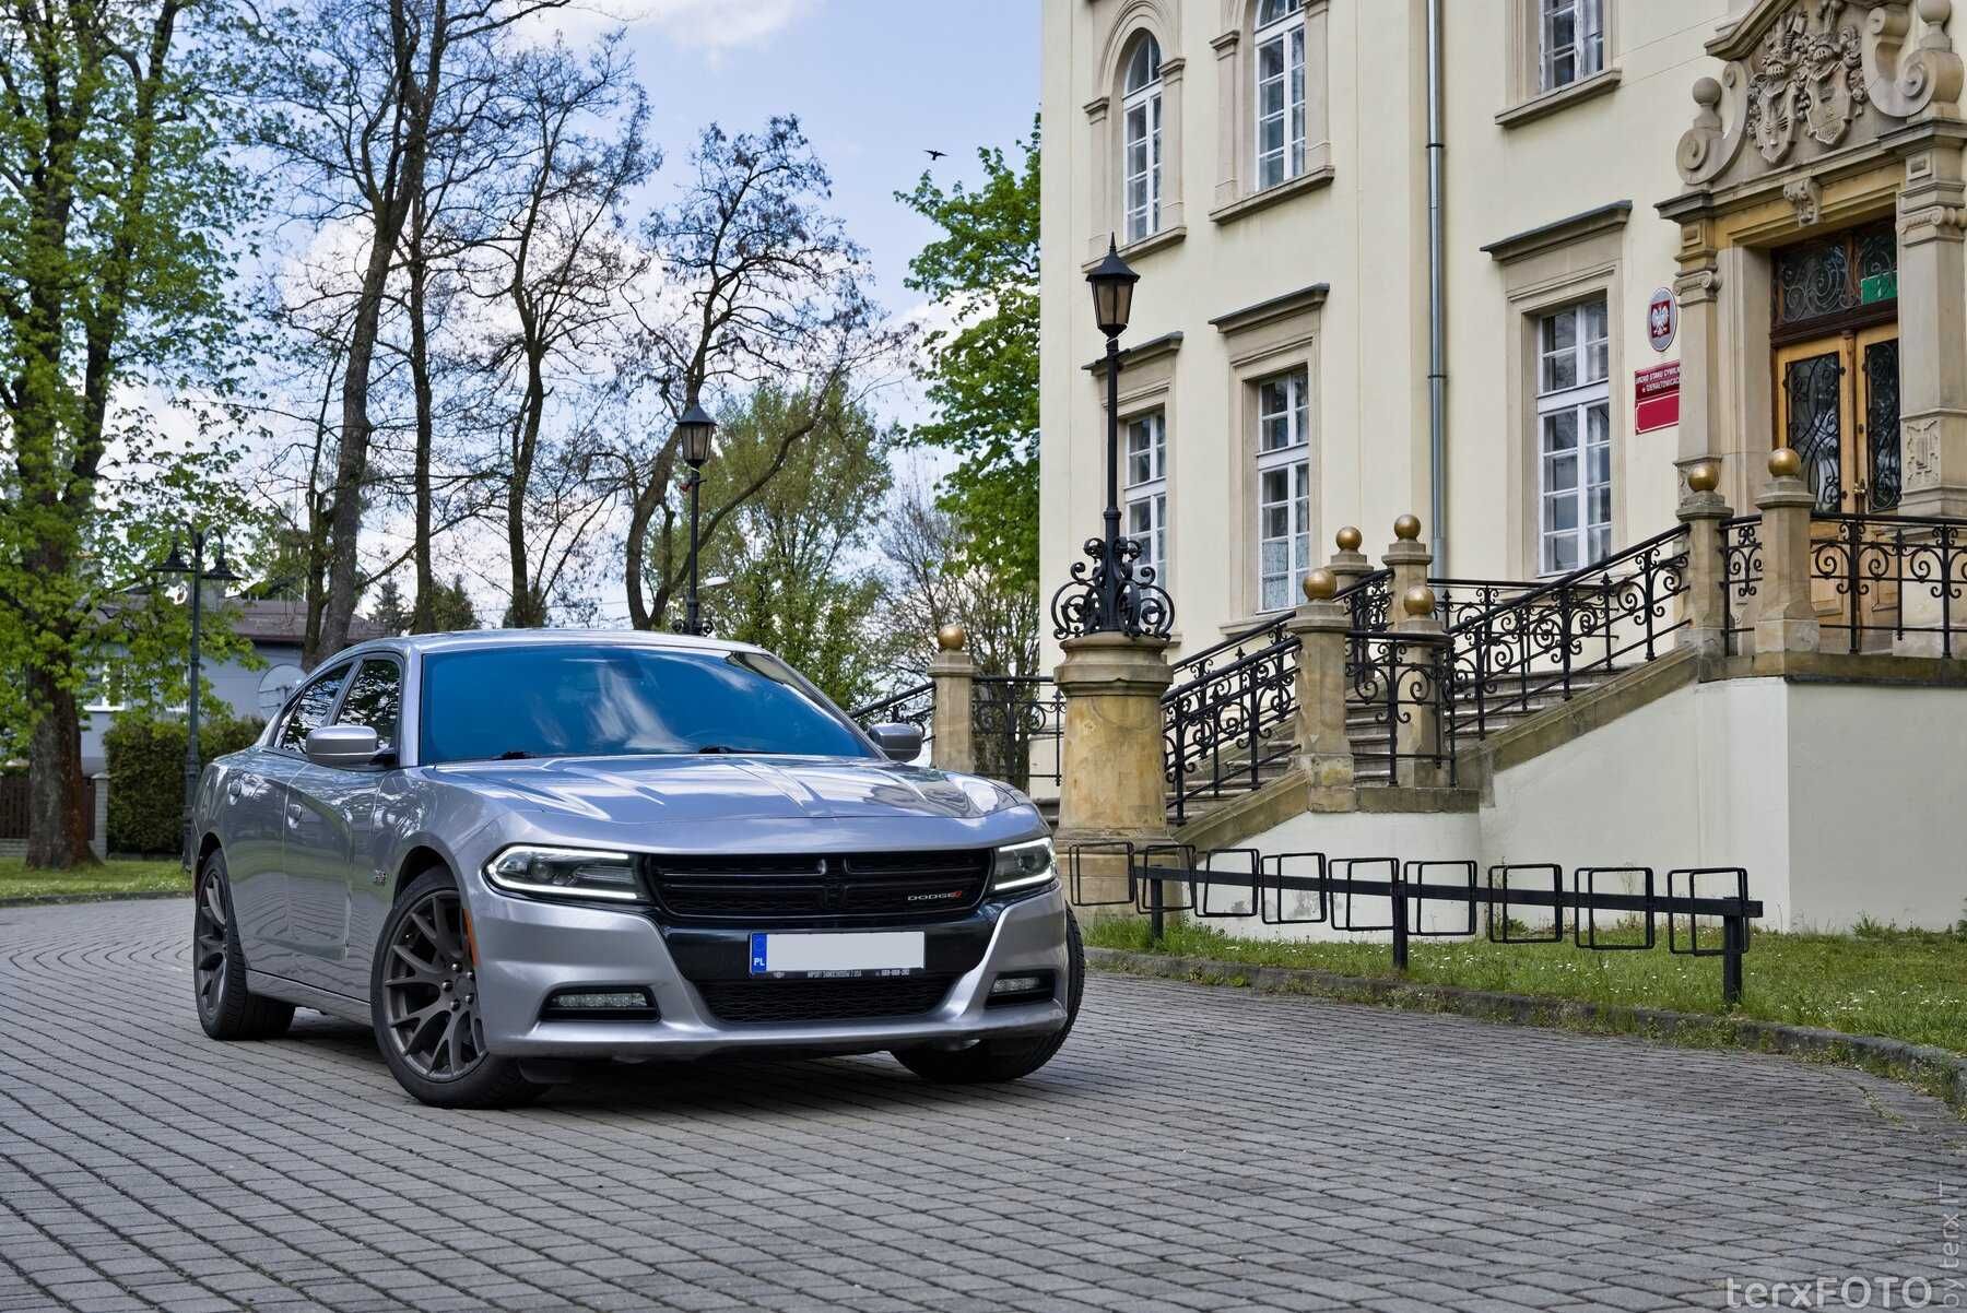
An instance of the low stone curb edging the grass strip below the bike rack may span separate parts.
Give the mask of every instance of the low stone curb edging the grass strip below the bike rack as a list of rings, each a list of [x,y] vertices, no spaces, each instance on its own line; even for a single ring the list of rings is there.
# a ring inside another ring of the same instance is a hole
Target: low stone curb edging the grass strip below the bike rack
[[[1519,1026],[1576,1026],[1611,1034],[1642,1034],[1668,1044],[1786,1054],[1841,1067],[1863,1067],[1918,1085],[1967,1114],[1967,1056],[1882,1036],[1853,1036],[1819,1026],[1790,1026],[1749,1016],[1705,1016],[1585,1002],[1538,995],[1509,995],[1461,985],[1416,985],[1395,977],[1340,975],[1310,967],[1259,967],[1214,957],[1170,957],[1117,947],[1088,947],[1086,965],[1123,975],[1153,975],[1200,985],[1247,985],[1269,995],[1316,995],[1341,1002],[1383,1002],[1416,1010],[1456,1012]]]

